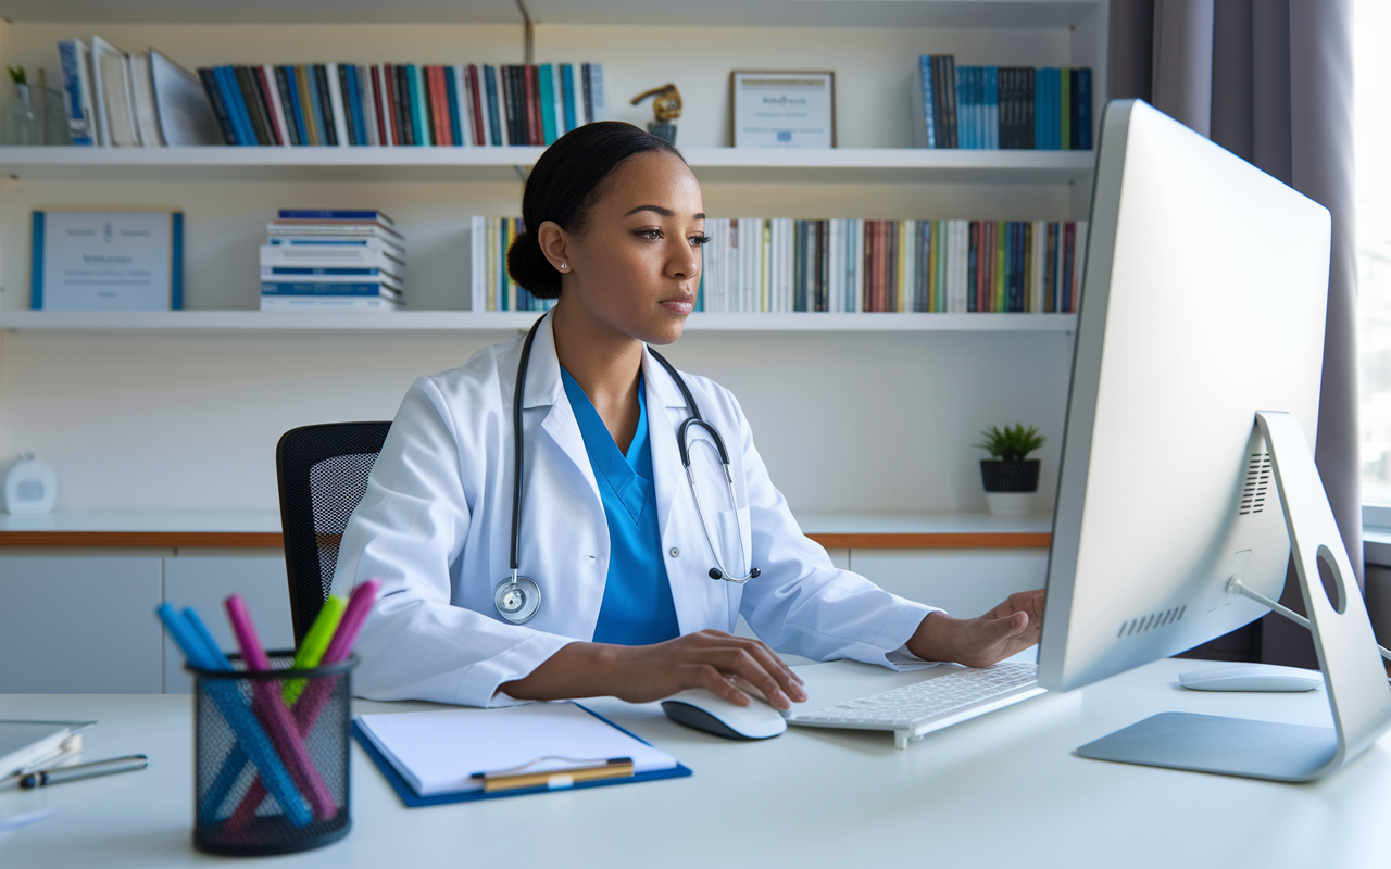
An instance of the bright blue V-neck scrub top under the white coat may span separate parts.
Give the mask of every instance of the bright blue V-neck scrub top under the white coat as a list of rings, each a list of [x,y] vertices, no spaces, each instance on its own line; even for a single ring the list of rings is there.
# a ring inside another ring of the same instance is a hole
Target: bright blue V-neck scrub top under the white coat
[[[648,645],[673,640],[680,635],[680,626],[662,558],[662,531],[657,524],[657,488],[652,485],[652,449],[641,375],[637,381],[637,432],[626,456],[613,442],[590,396],[563,367],[561,380],[580,424],[609,527],[609,571],[594,642]]]

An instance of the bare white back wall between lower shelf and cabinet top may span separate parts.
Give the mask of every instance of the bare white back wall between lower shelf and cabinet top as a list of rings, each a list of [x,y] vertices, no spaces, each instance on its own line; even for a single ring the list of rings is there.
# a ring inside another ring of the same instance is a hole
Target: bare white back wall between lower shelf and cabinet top
[[[7,334],[0,455],[49,462],[63,510],[271,510],[282,432],[391,419],[416,375],[510,338]],[[691,332],[668,353],[734,391],[797,510],[983,510],[970,445],[1014,421],[1049,437],[1050,503],[1070,346],[1052,332]]]

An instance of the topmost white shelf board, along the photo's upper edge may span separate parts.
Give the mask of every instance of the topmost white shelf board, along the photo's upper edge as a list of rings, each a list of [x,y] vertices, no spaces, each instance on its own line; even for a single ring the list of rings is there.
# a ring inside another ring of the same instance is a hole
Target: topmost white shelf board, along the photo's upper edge
[[[1063,28],[1081,22],[1093,1],[1059,0],[530,0],[540,25],[705,26],[1011,26]],[[515,0],[338,0],[335,24],[522,24]],[[102,21],[108,24],[321,24],[321,4],[305,0],[10,0],[17,22]]]

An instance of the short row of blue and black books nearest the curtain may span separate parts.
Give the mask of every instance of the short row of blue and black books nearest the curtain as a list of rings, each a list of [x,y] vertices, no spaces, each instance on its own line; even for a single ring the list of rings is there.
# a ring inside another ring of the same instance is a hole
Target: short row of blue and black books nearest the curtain
[[[958,67],[924,54],[914,76],[918,147],[1091,150],[1092,71]]]

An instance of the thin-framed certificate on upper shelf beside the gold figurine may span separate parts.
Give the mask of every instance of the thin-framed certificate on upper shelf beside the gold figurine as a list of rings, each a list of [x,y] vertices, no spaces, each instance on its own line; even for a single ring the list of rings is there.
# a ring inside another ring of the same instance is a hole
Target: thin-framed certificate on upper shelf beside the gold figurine
[[[835,147],[836,74],[729,74],[734,147]]]

